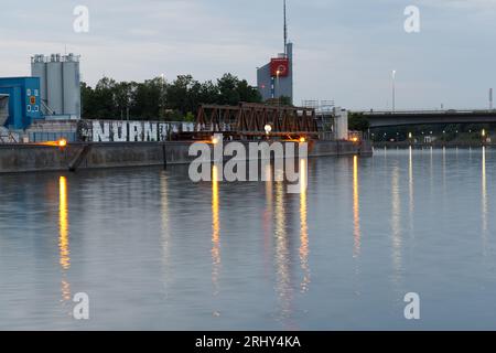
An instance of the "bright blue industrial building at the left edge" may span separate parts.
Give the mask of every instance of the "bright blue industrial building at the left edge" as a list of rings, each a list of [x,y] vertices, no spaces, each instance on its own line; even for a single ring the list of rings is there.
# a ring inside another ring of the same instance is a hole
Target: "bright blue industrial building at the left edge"
[[[0,78],[0,95],[9,96],[7,128],[23,130],[42,118],[39,77]]]

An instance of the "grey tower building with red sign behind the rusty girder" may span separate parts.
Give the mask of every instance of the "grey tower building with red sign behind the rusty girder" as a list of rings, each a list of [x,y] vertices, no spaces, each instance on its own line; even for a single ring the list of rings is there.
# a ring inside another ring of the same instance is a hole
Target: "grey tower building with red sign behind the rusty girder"
[[[257,85],[263,100],[288,97],[293,103],[293,44],[257,71]]]

